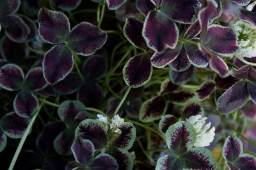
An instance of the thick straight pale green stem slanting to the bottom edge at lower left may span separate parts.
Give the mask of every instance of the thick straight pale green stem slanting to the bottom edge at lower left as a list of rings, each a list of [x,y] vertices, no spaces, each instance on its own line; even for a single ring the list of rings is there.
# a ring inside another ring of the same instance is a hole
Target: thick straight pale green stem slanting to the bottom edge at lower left
[[[22,138],[20,139],[20,143],[19,143],[19,145],[18,145],[18,147],[17,147],[17,150],[16,150],[16,152],[15,152],[15,154],[14,154],[14,156],[13,156],[12,162],[11,162],[11,164],[10,164],[8,170],[12,170],[13,167],[15,166],[16,160],[17,160],[18,157],[19,157],[19,154],[20,154],[20,151],[21,151],[21,149],[22,149],[22,146],[24,145],[24,143],[25,143],[25,141],[26,141],[26,138],[28,137],[28,134],[29,134],[29,132],[31,131],[31,128],[32,128],[32,126],[33,126],[33,124],[34,124],[34,122],[35,122],[35,120],[36,120],[36,117],[37,117],[38,113],[40,112],[41,108],[42,108],[42,105],[40,105],[40,106],[38,107],[38,109],[37,109],[35,115],[31,118],[31,120],[30,120],[30,122],[29,122],[29,124],[28,124],[28,127],[27,127],[26,131],[24,132]]]

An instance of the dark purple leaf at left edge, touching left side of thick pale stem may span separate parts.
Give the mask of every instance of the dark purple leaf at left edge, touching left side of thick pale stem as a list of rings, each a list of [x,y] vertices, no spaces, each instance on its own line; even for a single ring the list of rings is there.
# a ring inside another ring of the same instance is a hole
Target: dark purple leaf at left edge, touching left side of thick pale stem
[[[29,124],[29,118],[19,117],[14,111],[7,113],[0,120],[0,127],[9,138],[22,138]]]

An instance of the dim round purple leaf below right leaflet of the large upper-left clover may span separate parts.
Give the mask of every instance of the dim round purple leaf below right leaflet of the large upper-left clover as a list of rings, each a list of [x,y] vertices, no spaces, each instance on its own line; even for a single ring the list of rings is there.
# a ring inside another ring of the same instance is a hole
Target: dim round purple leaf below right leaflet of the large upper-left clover
[[[90,80],[99,80],[108,69],[108,60],[102,55],[92,55],[83,65],[83,76]]]

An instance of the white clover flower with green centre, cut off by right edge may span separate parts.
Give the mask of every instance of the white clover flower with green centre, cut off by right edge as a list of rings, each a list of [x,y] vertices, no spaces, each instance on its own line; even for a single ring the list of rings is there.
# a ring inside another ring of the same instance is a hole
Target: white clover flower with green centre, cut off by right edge
[[[237,34],[238,57],[256,57],[256,26],[249,22],[238,20],[230,24]]]

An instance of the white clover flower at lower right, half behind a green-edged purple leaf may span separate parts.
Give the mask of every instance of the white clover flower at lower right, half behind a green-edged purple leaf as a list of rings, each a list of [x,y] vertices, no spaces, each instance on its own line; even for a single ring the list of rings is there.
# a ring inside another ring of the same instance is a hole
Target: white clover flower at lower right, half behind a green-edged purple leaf
[[[195,147],[209,146],[214,139],[215,127],[212,127],[212,129],[210,129],[211,122],[205,125],[206,119],[206,117],[202,117],[201,115],[195,115],[186,118],[186,121],[192,124],[196,130],[196,141],[194,143]]]

